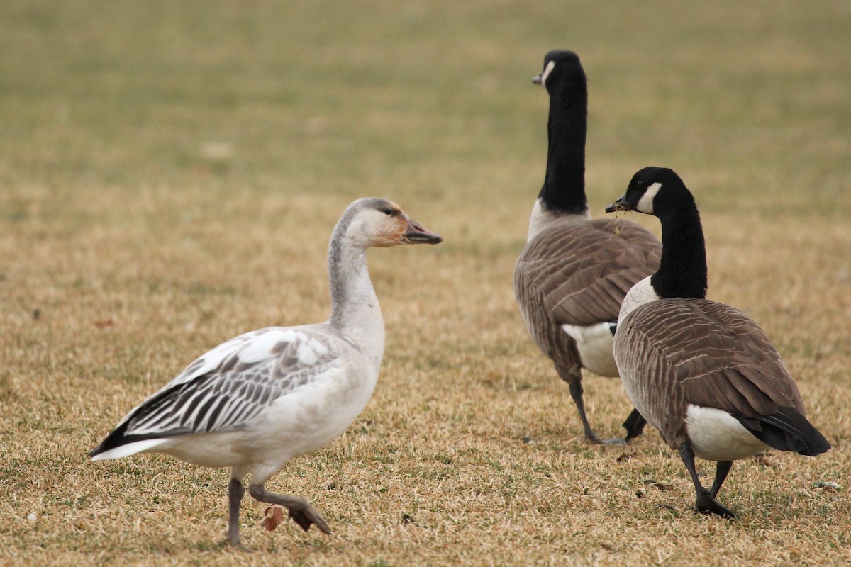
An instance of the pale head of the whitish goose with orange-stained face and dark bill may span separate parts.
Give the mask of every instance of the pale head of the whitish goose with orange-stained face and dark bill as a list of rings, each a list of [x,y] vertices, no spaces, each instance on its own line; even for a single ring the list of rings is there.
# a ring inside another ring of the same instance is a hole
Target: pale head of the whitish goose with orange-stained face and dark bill
[[[344,218],[351,220],[346,235],[359,247],[438,244],[443,241],[440,235],[417,223],[402,207],[387,199],[358,199],[349,206],[347,213]]]

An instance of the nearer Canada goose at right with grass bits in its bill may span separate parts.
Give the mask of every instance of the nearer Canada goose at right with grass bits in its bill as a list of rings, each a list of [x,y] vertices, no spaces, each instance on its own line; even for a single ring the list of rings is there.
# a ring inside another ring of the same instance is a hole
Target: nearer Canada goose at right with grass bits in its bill
[[[606,211],[652,214],[662,224],[660,267],[632,287],[620,309],[620,378],[638,411],[679,451],[697,511],[734,518],[715,500],[734,460],[769,447],[815,456],[831,445],[807,421],[789,369],[760,326],[706,299],[700,214],[677,173],[645,167]],[[694,456],[717,461],[709,490]]]

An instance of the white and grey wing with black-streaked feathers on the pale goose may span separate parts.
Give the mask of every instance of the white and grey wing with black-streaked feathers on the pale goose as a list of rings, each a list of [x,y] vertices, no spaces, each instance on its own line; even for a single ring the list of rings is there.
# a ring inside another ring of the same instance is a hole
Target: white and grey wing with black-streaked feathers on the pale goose
[[[308,327],[234,337],[136,406],[92,455],[143,439],[243,428],[274,400],[340,367],[339,344]]]

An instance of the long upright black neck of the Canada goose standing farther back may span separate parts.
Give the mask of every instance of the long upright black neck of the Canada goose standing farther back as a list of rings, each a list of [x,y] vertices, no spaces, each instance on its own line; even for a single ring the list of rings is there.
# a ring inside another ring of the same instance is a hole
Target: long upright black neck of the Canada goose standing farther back
[[[539,195],[549,211],[584,214],[588,209],[585,198],[587,121],[588,94],[584,84],[576,85],[573,92],[550,95],[546,177]]]

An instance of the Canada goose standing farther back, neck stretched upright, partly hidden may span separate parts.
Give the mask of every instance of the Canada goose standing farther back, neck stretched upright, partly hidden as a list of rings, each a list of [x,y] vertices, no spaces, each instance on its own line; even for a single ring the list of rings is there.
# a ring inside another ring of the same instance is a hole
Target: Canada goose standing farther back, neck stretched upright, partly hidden
[[[585,415],[582,368],[617,377],[612,334],[630,287],[659,267],[661,244],[628,221],[592,219],[585,198],[588,89],[572,51],[554,50],[533,81],[550,95],[544,185],[529,221],[526,247],[514,269],[514,293],[529,334],[569,384],[585,439],[602,441]],[[626,440],[641,434],[643,418],[624,422]]]

